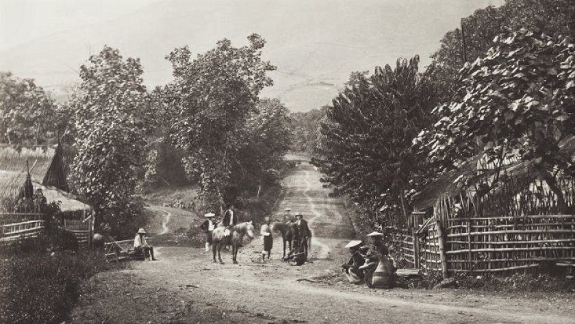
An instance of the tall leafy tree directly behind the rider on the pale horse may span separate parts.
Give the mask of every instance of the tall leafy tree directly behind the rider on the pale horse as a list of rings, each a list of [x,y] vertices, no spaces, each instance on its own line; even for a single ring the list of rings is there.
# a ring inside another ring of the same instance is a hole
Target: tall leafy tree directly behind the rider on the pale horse
[[[261,60],[265,40],[257,34],[248,40],[239,48],[220,40],[191,62],[188,47],[166,56],[175,78],[162,91],[168,132],[188,153],[186,171],[200,177],[201,197],[212,208],[231,186],[233,164],[246,144],[244,125],[257,111],[259,92],[272,85],[266,72],[275,67]]]

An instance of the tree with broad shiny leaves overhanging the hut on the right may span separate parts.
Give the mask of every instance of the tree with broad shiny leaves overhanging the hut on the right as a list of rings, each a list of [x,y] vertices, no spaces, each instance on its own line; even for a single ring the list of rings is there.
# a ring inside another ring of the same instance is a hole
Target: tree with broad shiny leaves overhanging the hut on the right
[[[561,150],[575,136],[575,46],[570,37],[527,28],[507,29],[495,45],[465,64],[463,86],[450,103],[435,108],[442,118],[414,142],[443,169],[478,154],[501,166],[515,150],[535,164],[565,212],[556,177],[557,170],[575,171],[572,157]]]

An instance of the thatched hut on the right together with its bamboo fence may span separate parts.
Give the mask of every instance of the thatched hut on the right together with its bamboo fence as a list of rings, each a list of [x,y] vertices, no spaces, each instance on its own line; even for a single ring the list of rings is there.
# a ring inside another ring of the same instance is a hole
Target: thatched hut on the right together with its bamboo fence
[[[575,138],[561,149],[574,155]],[[427,270],[455,273],[575,269],[575,215],[561,214],[557,194],[533,162],[506,158],[500,169],[474,158],[445,173],[415,197],[401,249]],[[566,205],[575,208],[575,179],[555,171]],[[487,190],[484,190],[487,188]],[[411,257],[413,256],[413,257]]]

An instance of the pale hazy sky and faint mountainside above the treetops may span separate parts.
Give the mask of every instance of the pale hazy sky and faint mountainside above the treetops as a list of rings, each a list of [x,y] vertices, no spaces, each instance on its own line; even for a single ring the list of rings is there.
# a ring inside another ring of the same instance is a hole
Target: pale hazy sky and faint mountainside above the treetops
[[[140,58],[149,88],[171,81],[165,56],[195,56],[228,38],[257,33],[277,66],[277,97],[292,111],[331,103],[353,71],[420,55],[429,64],[442,36],[464,16],[502,0],[0,0],[0,71],[33,78],[62,99],[81,64],[103,45]],[[192,58],[193,58],[192,56]]]

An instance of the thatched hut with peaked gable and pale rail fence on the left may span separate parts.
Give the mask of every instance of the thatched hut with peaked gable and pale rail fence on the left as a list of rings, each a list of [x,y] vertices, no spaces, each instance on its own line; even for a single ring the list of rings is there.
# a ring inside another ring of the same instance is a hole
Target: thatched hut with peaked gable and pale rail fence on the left
[[[59,145],[0,145],[0,242],[34,236],[44,228],[40,225],[44,215],[33,201],[39,191],[47,203],[55,201],[60,205],[62,212],[57,225],[73,232],[80,247],[89,247],[93,234],[92,208],[68,192]]]

